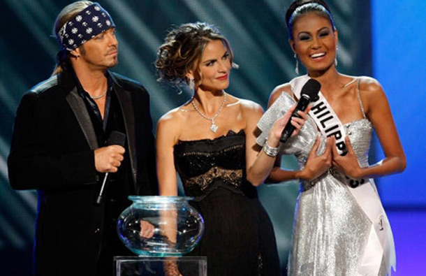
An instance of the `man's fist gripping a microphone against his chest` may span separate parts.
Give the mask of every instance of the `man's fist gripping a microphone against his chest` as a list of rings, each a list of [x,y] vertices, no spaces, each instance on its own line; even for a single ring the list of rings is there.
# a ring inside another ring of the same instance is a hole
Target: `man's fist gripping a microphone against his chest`
[[[96,203],[100,204],[103,198],[108,173],[116,173],[124,159],[124,143],[126,143],[126,134],[119,131],[112,131],[107,141],[106,147],[95,150],[95,167],[100,173],[105,173],[101,190],[99,191]]]

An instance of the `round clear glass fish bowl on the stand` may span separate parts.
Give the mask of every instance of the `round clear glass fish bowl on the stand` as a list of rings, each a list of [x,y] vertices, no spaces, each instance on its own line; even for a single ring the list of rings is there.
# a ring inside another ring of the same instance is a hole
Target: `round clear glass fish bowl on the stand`
[[[186,196],[128,196],[133,203],[117,221],[124,245],[137,255],[180,256],[204,231],[204,219]]]

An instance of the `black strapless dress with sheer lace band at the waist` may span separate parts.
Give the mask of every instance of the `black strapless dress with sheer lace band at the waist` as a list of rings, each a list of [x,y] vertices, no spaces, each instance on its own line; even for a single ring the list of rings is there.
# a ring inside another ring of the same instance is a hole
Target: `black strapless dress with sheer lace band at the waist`
[[[244,131],[179,141],[174,156],[185,194],[205,219],[190,255],[207,256],[209,276],[280,275],[272,223],[245,177]]]

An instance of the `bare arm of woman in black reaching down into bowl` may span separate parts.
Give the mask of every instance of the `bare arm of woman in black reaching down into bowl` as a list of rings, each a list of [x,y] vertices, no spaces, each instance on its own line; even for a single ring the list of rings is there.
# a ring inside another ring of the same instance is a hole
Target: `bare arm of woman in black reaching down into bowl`
[[[160,196],[177,196],[177,176],[173,146],[177,143],[180,125],[172,112],[166,113],[157,124],[156,167]]]

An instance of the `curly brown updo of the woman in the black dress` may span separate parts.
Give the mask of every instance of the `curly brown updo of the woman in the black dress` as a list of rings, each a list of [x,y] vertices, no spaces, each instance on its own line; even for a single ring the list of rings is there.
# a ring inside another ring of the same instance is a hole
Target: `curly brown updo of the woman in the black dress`
[[[222,41],[230,54],[230,62],[233,64],[233,52],[230,44],[214,25],[196,22],[182,24],[172,29],[157,52],[155,66],[159,73],[159,80],[189,83],[186,73],[193,70],[197,86],[202,78],[198,65],[205,45],[210,41]]]

